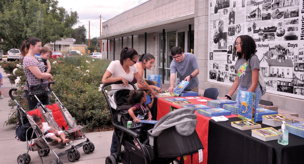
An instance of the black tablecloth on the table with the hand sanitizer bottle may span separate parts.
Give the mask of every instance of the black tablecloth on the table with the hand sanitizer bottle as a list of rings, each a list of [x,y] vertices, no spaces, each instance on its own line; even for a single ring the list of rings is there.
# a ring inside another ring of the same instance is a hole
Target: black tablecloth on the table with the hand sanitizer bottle
[[[229,118],[226,122],[209,121],[208,164],[299,164],[304,163],[304,138],[289,133],[286,146],[278,140],[262,141],[251,136],[251,130],[239,130]],[[270,127],[261,124],[262,128]],[[274,127],[281,129],[280,127]]]

